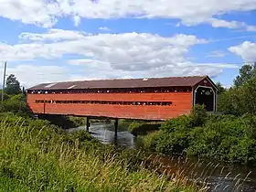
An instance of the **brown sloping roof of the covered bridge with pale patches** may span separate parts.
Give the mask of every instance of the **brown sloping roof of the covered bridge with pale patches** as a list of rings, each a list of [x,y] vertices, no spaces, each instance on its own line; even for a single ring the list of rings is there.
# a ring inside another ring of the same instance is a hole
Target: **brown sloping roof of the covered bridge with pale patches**
[[[107,88],[149,88],[149,87],[192,87],[208,76],[119,79],[119,80],[81,80],[67,82],[42,83],[28,90],[77,90]]]

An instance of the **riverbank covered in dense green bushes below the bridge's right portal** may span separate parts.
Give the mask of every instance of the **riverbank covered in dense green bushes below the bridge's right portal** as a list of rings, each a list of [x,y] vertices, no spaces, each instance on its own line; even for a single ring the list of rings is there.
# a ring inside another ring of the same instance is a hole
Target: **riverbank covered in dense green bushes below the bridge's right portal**
[[[168,120],[159,126],[159,130],[138,138],[144,149],[157,154],[255,164],[255,127],[256,116],[207,114],[197,106],[190,115]]]

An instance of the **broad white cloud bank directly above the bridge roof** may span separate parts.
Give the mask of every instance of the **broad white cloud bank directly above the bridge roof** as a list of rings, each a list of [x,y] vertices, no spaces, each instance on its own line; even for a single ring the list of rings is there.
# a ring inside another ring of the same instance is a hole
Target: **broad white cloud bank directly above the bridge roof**
[[[237,68],[235,65],[194,63],[186,59],[185,55],[193,46],[203,46],[208,41],[184,34],[173,37],[134,32],[91,35],[49,29],[42,34],[22,33],[19,39],[15,45],[0,44],[0,57],[11,63],[34,63],[8,69],[26,85],[56,80],[216,76],[222,69]],[[66,55],[75,59],[66,58]],[[59,63],[61,66],[39,66],[39,59],[56,63],[61,59],[62,63]]]

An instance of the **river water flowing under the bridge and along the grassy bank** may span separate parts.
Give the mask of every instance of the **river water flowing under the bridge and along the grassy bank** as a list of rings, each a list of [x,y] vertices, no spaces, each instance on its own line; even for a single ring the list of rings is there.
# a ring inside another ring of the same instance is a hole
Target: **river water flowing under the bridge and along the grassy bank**
[[[67,132],[86,130],[85,126],[66,130]],[[139,149],[139,142],[127,127],[121,126],[117,137],[112,123],[92,123],[90,133],[102,144],[116,144],[128,148]],[[207,183],[209,191],[256,191],[256,168],[246,165],[218,164],[217,162],[201,162],[182,157],[152,155],[162,164],[162,169],[172,173],[180,173],[188,180],[198,184]]]

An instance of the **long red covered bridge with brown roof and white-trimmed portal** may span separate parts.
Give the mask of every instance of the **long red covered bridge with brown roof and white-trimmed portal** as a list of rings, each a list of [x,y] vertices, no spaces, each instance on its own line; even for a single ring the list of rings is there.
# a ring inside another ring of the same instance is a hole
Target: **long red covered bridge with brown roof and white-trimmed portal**
[[[27,90],[40,114],[166,120],[188,114],[195,104],[216,111],[217,87],[208,76],[43,83]]]

